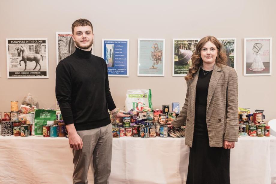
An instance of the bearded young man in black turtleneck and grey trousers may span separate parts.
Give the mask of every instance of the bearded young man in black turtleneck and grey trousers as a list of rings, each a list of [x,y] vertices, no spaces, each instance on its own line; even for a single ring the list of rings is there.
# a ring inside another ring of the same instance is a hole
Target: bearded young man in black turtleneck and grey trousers
[[[72,24],[76,51],[56,68],[55,95],[73,149],[73,183],[88,183],[89,165],[94,167],[94,183],[108,183],[111,170],[112,127],[109,109],[116,119],[104,59],[91,55],[93,26],[79,19]]]

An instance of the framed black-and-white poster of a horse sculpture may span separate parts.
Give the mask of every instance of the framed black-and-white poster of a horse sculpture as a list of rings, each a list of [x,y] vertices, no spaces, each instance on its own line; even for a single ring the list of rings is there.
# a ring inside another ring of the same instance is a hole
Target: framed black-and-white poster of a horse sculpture
[[[49,78],[47,38],[7,38],[7,78]]]

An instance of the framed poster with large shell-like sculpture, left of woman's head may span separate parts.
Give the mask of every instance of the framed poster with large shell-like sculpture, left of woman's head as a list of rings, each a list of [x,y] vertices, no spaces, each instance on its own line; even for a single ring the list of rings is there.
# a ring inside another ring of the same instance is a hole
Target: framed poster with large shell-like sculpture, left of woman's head
[[[173,76],[186,76],[199,38],[173,39]]]

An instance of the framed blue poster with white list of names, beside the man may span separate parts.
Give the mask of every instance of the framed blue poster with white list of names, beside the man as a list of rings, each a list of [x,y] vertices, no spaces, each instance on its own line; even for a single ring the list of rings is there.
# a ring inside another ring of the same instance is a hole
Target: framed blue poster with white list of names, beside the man
[[[107,63],[108,76],[128,77],[129,39],[103,39],[102,58]]]

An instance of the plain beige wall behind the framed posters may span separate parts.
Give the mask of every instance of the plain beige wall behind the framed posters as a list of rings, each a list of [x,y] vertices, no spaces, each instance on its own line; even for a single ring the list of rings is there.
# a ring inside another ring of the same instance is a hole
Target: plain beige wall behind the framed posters
[[[273,0],[232,1],[64,1],[0,2],[0,112],[28,93],[40,108],[55,108],[56,32],[68,32],[74,20],[94,26],[94,54],[101,56],[102,38],[130,39],[129,77],[109,77],[113,99],[123,108],[128,89],[152,89],[154,108],[184,103],[187,85],[172,76],[172,39],[213,35],[237,38],[236,71],[239,107],[263,109],[265,122],[276,118],[276,13]],[[243,76],[243,38],[272,37],[272,75]],[[48,38],[48,79],[7,79],[6,38]],[[137,39],[165,38],[165,76],[137,76]]]

